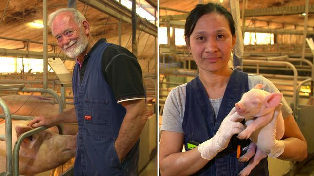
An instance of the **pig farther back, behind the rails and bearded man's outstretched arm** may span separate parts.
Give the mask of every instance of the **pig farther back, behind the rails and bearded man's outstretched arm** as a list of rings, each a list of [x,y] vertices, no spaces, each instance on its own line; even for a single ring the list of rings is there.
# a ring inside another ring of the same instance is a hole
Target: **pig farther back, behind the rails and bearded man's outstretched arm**
[[[1,97],[10,109],[10,112],[14,115],[23,115],[36,117],[39,115],[43,116],[55,116],[59,114],[58,104],[52,104],[47,102],[40,102],[40,100],[51,100],[42,96],[37,95],[5,95]],[[73,108],[74,105],[66,105],[67,111]],[[0,114],[3,114],[0,108]],[[51,131],[58,133],[57,127],[50,128]],[[63,123],[63,134],[76,135],[78,133],[77,124]]]

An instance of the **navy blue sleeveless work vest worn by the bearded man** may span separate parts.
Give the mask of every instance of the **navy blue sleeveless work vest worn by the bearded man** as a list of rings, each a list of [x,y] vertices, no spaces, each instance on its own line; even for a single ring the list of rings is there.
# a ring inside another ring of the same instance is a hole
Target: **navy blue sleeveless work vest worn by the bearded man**
[[[72,89],[78,119],[75,176],[136,176],[139,141],[121,163],[114,143],[125,116],[101,71],[102,53],[110,43],[104,42],[90,54],[80,83],[80,66],[73,70]]]

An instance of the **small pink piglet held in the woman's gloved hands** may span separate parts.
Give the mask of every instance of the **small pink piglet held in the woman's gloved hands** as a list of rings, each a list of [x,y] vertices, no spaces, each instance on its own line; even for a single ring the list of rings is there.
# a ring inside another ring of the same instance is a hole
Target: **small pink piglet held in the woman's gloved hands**
[[[260,160],[271,153],[275,144],[272,141],[280,140],[284,134],[284,121],[281,114],[281,93],[269,93],[257,84],[252,90],[245,93],[236,103],[236,111],[245,118],[246,128],[237,136],[239,139],[250,138],[248,151],[239,158],[246,162],[251,157],[250,163],[239,173],[247,176]],[[255,153],[256,150],[256,153]]]

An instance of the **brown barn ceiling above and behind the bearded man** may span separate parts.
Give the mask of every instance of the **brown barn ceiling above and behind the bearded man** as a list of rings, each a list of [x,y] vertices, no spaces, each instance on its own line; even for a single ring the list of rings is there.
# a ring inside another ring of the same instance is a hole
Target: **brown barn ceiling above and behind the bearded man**
[[[85,0],[81,0],[85,1]],[[113,16],[107,15],[99,10],[89,6],[88,2],[82,3],[77,1],[77,8],[83,14],[91,25],[91,34],[97,41],[100,38],[106,38],[109,42],[118,44],[118,23],[119,20]],[[95,1],[95,0],[94,0]],[[106,0],[103,0],[106,1]],[[157,0],[152,0],[157,4]],[[0,18],[4,14],[8,0],[0,0]],[[48,14],[59,9],[67,7],[67,0],[48,0]],[[35,20],[42,20],[42,0],[9,0],[3,20],[0,22],[0,38],[14,38],[22,40],[30,40],[34,42],[43,41],[43,29],[32,28],[28,23]],[[144,0],[138,0],[137,5],[146,9],[150,14],[154,15],[154,8]],[[131,50],[132,27],[129,23],[122,21],[122,46]],[[138,53],[141,58],[154,57],[154,51],[147,48],[154,48],[154,36],[142,31],[137,31]],[[25,45],[27,42],[13,41],[9,39],[0,39],[0,48],[27,50]],[[48,31],[48,43],[56,45],[56,40]],[[30,51],[42,52],[42,44],[30,43]],[[48,46],[48,50],[53,50],[52,46]],[[55,47],[56,53],[59,48]],[[145,52],[144,52],[145,51]]]

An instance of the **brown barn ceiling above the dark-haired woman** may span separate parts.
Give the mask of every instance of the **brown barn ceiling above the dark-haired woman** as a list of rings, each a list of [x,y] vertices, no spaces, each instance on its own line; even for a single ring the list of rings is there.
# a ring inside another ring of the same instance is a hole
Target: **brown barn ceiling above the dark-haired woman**
[[[184,21],[184,17],[186,17],[186,13],[183,12],[176,12],[171,10],[165,10],[165,8],[172,8],[172,9],[178,9],[181,11],[191,11],[200,0],[159,0],[160,5],[160,21],[163,21],[166,19],[167,16],[173,16],[173,15],[182,15],[183,18],[181,20]],[[204,3],[208,2],[214,2],[214,3],[220,3],[221,0],[203,0]],[[222,0],[221,3],[224,7],[227,9],[229,8],[229,0]],[[309,0],[310,9],[311,12],[308,15],[308,25],[314,27],[314,0]],[[243,0],[239,0],[239,6],[240,9],[243,9]],[[305,0],[248,0],[247,4],[244,5],[245,9],[263,9],[263,8],[271,8],[271,7],[278,7],[278,8],[284,8],[284,7],[295,7],[295,6],[305,6]],[[258,21],[260,20],[266,20],[266,21],[274,21],[279,23],[271,23],[270,28],[282,28],[284,26],[285,28],[291,28],[294,27],[293,25],[282,25],[284,23],[289,24],[299,24],[304,25],[304,16],[299,14],[288,14],[286,10],[285,13],[280,13],[279,15],[272,15],[272,16],[255,16],[255,17],[247,17],[246,25],[250,24],[251,26],[255,25],[255,27],[268,27],[266,22]],[[185,14],[185,16],[184,16]],[[173,16],[175,17],[175,16]],[[253,20],[252,20],[253,19]],[[254,20],[255,19],[255,20]],[[299,28],[299,27],[298,27]],[[301,27],[302,28],[302,27]],[[313,30],[313,28],[309,28],[308,30]]]

